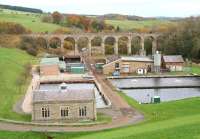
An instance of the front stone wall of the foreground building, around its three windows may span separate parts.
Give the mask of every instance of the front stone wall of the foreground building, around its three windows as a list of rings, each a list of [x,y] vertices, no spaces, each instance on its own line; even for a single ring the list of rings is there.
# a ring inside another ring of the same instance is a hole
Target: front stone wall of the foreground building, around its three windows
[[[69,107],[69,116],[61,117],[61,107]],[[79,116],[79,107],[87,107],[87,115],[85,117]],[[50,117],[42,117],[42,108],[48,107]],[[96,104],[95,101],[71,101],[71,102],[54,102],[54,103],[34,103],[32,112],[32,121],[35,122],[56,122],[66,121],[75,122],[79,120],[95,120],[96,119]]]

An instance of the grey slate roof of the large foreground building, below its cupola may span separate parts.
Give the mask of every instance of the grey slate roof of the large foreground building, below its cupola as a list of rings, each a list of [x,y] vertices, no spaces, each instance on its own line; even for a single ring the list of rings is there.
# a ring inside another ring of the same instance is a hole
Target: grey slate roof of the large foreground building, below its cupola
[[[66,89],[66,90],[36,90],[33,92],[33,103],[36,102],[59,102],[59,101],[84,101],[94,100],[93,89]]]

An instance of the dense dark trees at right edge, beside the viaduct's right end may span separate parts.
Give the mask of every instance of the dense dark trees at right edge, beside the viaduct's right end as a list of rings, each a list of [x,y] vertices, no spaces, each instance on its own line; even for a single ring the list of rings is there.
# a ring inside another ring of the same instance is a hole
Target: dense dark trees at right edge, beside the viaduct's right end
[[[159,50],[164,54],[180,54],[200,62],[200,17],[186,18],[169,27],[158,43]]]

